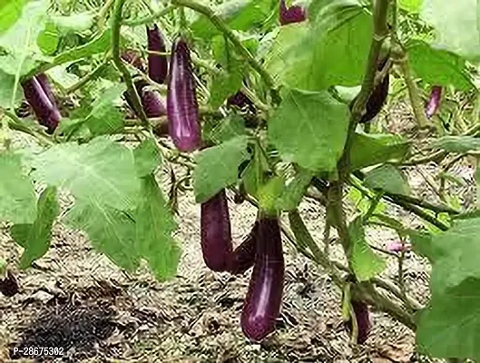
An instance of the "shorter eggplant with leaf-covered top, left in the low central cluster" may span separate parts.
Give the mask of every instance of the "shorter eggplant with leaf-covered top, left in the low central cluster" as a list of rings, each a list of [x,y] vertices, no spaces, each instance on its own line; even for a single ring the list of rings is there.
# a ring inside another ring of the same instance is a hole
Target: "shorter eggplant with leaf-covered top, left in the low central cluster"
[[[201,203],[203,260],[210,270],[229,270],[232,250],[229,205],[225,190],[221,190],[209,201]]]

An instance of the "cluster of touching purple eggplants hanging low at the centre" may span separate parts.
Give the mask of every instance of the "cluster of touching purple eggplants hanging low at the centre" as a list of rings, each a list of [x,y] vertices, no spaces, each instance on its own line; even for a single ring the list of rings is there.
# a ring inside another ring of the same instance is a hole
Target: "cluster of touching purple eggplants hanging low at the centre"
[[[233,250],[228,203],[222,190],[201,203],[201,250],[211,270],[240,274],[253,266],[240,325],[250,340],[263,340],[275,329],[283,293],[285,264],[278,219],[261,217]]]

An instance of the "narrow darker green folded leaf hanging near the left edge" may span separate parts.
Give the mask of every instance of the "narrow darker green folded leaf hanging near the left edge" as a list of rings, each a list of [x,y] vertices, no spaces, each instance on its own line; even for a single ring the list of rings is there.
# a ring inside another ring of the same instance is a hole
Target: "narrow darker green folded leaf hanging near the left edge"
[[[14,224],[10,229],[12,238],[24,248],[20,258],[21,269],[30,267],[34,260],[40,259],[50,248],[52,227],[59,211],[54,187],[46,188],[40,195],[37,211],[33,224]]]

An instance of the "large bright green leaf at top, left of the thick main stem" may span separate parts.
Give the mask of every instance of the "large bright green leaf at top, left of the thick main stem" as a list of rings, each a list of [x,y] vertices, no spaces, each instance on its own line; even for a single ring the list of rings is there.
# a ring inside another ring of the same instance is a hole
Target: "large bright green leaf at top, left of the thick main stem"
[[[372,19],[357,0],[321,1],[312,23],[282,26],[266,67],[278,83],[307,90],[361,83]]]

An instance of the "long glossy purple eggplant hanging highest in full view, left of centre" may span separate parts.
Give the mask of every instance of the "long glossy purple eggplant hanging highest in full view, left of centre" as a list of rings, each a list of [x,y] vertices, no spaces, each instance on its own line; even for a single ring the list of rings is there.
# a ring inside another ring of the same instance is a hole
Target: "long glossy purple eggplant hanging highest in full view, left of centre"
[[[199,106],[191,69],[190,50],[179,37],[171,48],[167,90],[167,113],[171,140],[181,152],[192,152],[201,146]]]

